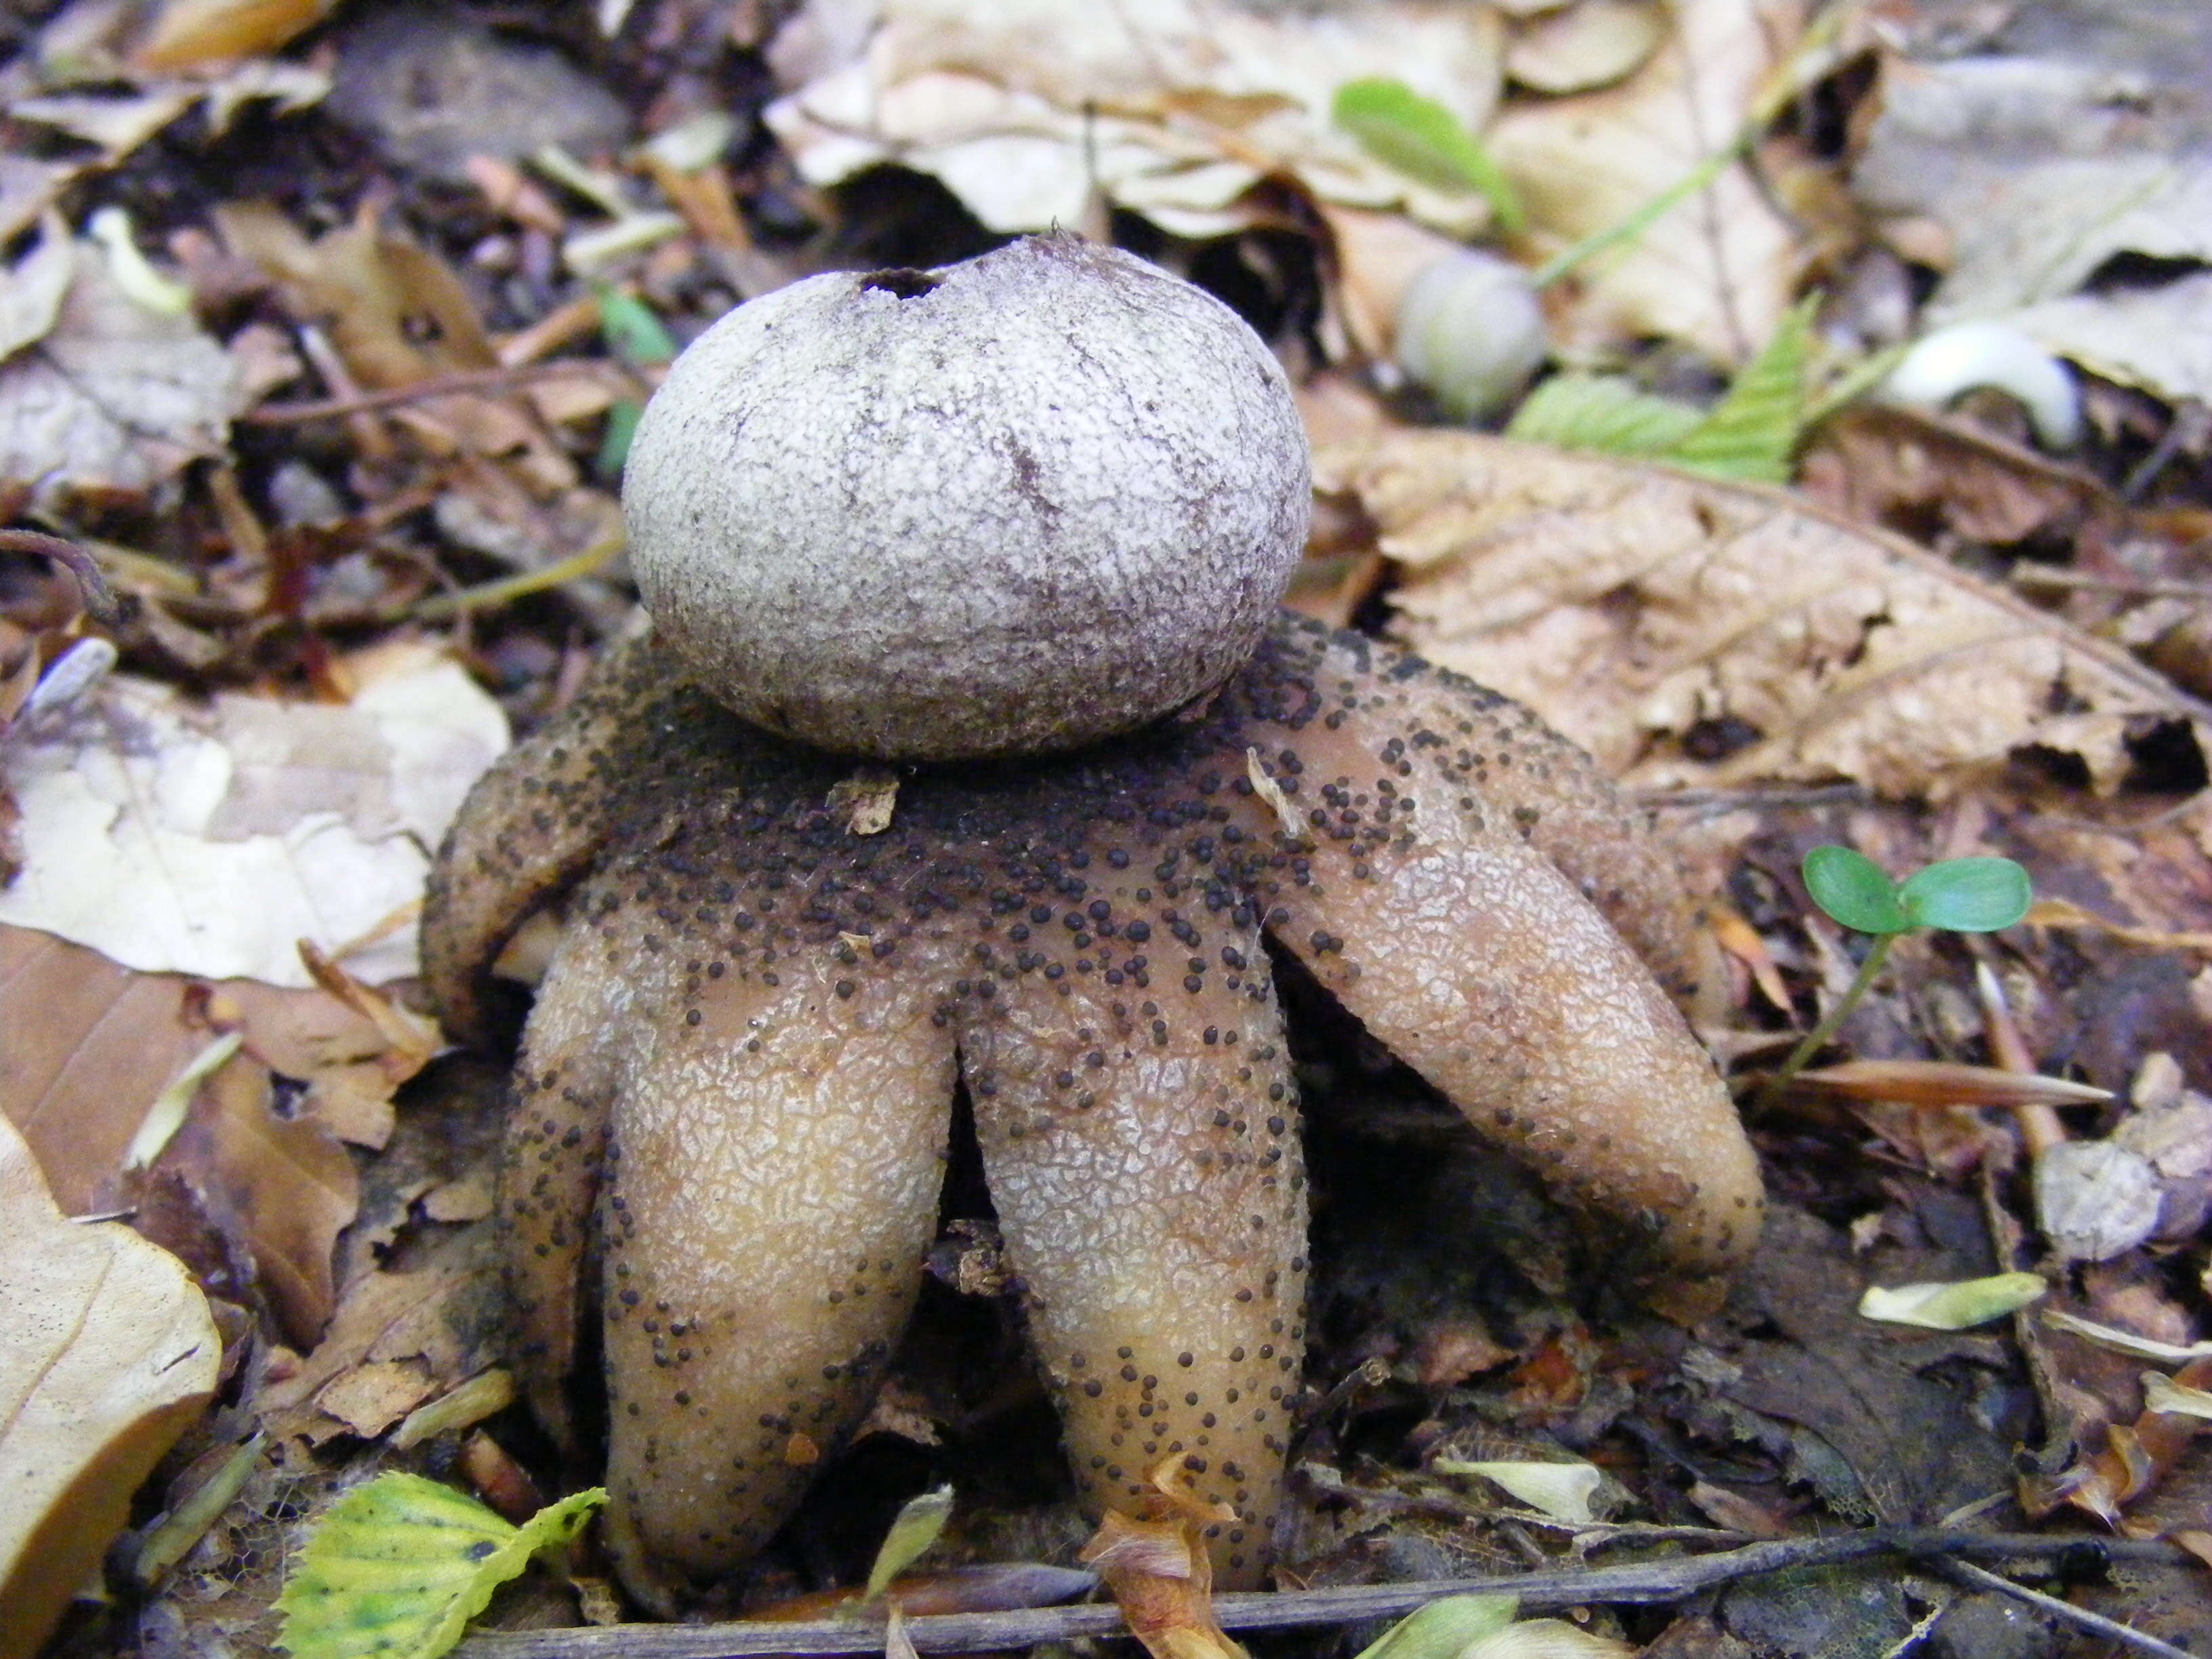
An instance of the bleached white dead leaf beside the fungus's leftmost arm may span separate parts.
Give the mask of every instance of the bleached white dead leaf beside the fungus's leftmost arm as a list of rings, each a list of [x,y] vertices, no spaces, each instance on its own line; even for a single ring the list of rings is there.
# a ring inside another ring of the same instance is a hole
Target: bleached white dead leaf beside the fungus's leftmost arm
[[[422,894],[429,849],[507,719],[427,646],[383,650],[347,708],[111,677],[7,752],[22,876],[0,922],[144,971],[305,987],[299,940],[341,953]],[[345,956],[414,973],[414,927]]]

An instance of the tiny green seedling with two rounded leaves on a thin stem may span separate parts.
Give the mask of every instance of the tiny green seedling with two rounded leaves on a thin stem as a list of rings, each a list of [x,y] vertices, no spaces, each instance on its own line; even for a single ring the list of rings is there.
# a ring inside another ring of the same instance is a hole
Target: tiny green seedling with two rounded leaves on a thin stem
[[[1805,891],[1834,920],[1871,933],[1874,949],[1858,964],[1851,989],[1805,1033],[1781,1071],[1759,1091],[1761,1106],[1774,1104],[1790,1079],[1805,1071],[1805,1062],[1851,1018],[1851,1009],[1889,960],[1889,947],[1900,938],[1920,927],[1995,933],[2026,916],[2035,902],[2028,872],[2011,858],[1944,858],[1893,883],[1878,863],[1849,847],[1814,847],[1805,854]]]

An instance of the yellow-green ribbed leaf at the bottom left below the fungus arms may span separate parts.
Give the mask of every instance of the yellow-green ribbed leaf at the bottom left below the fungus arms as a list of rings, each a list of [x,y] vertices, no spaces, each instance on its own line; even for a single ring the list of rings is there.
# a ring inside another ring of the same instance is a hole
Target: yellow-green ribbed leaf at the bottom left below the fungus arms
[[[438,1659],[495,1588],[604,1502],[593,1486],[509,1526],[436,1480],[378,1475],[314,1524],[276,1597],[276,1646],[296,1659]]]

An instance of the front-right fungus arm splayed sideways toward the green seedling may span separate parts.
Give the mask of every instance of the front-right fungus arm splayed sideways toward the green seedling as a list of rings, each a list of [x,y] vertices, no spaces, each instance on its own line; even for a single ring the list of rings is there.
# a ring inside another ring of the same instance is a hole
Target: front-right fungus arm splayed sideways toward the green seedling
[[[1305,878],[1265,896],[1270,931],[1555,1190],[1648,1232],[1677,1270],[1741,1261],[1759,1166],[1650,971],[1495,807],[1462,810],[1418,759],[1400,770],[1396,721],[1323,690],[1272,728],[1301,763],[1281,785],[1310,847]]]

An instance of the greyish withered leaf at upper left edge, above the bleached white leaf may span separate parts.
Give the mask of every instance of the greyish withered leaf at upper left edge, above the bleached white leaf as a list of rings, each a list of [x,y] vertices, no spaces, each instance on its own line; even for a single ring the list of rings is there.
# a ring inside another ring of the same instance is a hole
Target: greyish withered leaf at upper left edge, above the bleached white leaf
[[[80,241],[53,325],[0,365],[0,482],[146,491],[217,453],[243,407],[221,343],[133,301]]]

